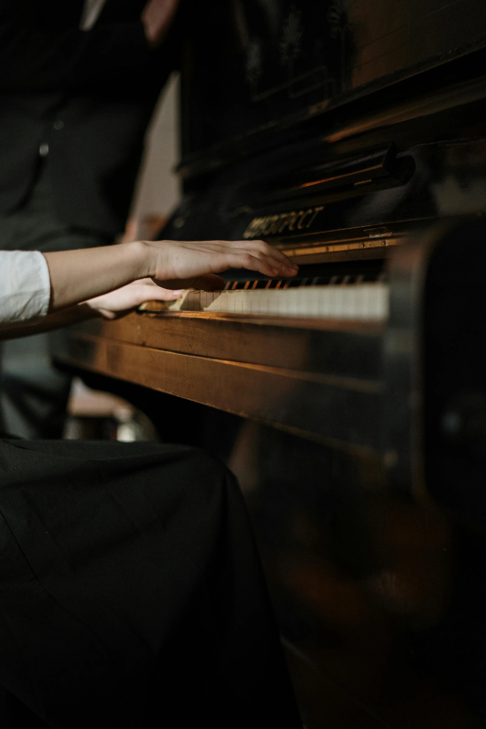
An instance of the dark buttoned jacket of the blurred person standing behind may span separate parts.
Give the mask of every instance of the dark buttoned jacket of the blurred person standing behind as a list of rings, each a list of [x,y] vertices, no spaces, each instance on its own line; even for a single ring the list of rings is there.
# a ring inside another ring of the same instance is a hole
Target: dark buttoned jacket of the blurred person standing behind
[[[123,229],[146,125],[176,66],[176,31],[149,50],[144,4],[107,0],[79,31],[82,0],[0,2],[0,212],[26,199],[44,152],[64,222]]]

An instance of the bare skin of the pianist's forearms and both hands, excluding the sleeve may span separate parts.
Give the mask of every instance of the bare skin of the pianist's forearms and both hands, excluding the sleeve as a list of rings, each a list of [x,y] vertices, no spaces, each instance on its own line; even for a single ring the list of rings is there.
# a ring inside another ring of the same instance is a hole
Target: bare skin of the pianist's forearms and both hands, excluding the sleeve
[[[50,313],[89,300],[91,308],[104,316],[157,298],[152,284],[141,282],[143,278],[152,278],[164,289],[214,291],[224,286],[216,274],[228,268],[247,268],[270,278],[289,278],[299,270],[263,241],[133,241],[55,251],[44,258],[51,284]],[[135,283],[129,288],[130,281]],[[177,295],[162,292],[160,298],[173,300]]]

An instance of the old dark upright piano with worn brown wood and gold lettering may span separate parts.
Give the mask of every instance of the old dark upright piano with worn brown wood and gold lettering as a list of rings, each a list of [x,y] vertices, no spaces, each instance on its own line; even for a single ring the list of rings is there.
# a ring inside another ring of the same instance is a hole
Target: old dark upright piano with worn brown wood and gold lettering
[[[299,274],[227,271],[56,359],[230,439],[308,729],[484,727],[484,4],[213,5],[183,6],[160,237],[262,238]]]

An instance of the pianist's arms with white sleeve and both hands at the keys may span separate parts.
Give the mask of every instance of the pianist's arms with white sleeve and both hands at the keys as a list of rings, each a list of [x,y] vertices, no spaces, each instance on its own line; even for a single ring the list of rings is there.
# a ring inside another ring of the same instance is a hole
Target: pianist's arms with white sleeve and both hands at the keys
[[[135,241],[44,254],[0,251],[0,338],[55,329],[86,316],[113,319],[144,301],[172,301],[183,288],[213,291],[224,285],[217,273],[229,268],[271,277],[297,273],[297,266],[263,241]],[[77,306],[82,303],[85,308]]]

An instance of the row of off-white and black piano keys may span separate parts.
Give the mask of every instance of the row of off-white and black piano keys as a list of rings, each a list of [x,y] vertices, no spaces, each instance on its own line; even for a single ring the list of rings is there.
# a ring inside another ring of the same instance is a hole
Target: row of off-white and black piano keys
[[[141,306],[141,311],[208,311],[367,321],[387,319],[388,285],[379,280],[351,278],[232,281],[223,291],[189,289],[170,304],[148,302]]]

